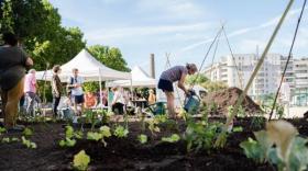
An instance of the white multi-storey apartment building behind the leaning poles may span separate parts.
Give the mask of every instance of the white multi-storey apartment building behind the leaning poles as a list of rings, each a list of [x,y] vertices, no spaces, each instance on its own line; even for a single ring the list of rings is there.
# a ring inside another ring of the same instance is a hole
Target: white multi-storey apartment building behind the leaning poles
[[[258,61],[258,56],[255,54],[235,54],[233,57],[230,55],[224,56],[219,62],[206,67],[205,75],[212,81],[223,81],[229,87],[244,88]],[[268,54],[253,80],[249,95],[257,99],[258,96],[275,93],[287,57],[279,54]],[[292,89],[295,88],[293,66],[294,60],[292,58],[286,70],[286,80]]]

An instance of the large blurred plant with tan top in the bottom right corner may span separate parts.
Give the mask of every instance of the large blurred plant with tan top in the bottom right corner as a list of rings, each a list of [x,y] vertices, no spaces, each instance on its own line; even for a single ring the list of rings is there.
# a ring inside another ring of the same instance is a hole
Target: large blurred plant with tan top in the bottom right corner
[[[297,129],[285,121],[271,122],[266,130],[254,133],[256,140],[240,144],[248,158],[276,164],[279,171],[302,171],[308,166],[308,139],[297,136]],[[274,146],[275,145],[275,146]]]

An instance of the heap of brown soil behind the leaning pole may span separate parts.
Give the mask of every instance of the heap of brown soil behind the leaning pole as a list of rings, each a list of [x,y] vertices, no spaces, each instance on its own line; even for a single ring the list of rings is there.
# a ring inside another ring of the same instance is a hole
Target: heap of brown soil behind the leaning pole
[[[230,105],[235,105],[239,96],[243,93],[243,91],[239,88],[229,88],[221,91],[212,92],[206,95],[202,101],[206,105],[217,105],[217,111],[215,113],[227,113],[228,107]],[[242,107],[245,112],[249,113],[257,113],[261,112],[260,106],[254,103],[254,101],[245,95],[244,101],[242,102]]]

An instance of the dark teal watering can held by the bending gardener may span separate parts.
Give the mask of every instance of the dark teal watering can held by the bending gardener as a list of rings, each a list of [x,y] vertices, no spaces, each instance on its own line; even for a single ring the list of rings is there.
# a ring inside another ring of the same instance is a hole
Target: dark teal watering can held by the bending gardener
[[[199,105],[200,105],[200,98],[196,94],[194,90],[189,90],[189,94],[186,95],[184,101],[184,110],[190,114],[196,114]]]

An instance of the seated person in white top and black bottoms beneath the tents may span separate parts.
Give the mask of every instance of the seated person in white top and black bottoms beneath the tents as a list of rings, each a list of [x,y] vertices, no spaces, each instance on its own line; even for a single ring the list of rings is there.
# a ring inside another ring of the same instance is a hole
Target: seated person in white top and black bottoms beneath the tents
[[[123,91],[120,87],[112,88],[113,91],[113,100],[112,100],[112,112],[116,114],[124,114],[124,104],[125,99],[123,95]]]

